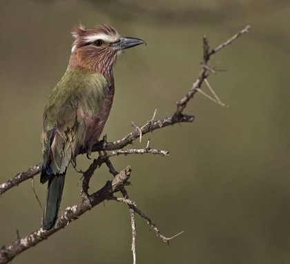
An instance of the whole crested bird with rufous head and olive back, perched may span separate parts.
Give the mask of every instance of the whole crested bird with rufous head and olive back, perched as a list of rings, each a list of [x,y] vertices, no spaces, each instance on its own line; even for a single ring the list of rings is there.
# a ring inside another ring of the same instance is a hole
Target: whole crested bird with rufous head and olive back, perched
[[[68,68],[43,111],[40,182],[48,181],[42,229],[51,230],[64,190],[66,170],[76,156],[91,153],[110,114],[115,92],[113,65],[124,50],[145,44],[121,37],[109,25],[75,26]]]

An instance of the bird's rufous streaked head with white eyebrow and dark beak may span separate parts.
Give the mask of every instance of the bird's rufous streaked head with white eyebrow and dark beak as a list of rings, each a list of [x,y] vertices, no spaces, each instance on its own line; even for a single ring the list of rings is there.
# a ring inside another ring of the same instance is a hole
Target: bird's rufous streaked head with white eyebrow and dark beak
[[[69,66],[95,70],[104,75],[112,71],[124,50],[145,43],[142,39],[121,37],[108,25],[95,26],[93,29],[80,25],[74,28],[72,37],[75,41],[72,43]]]

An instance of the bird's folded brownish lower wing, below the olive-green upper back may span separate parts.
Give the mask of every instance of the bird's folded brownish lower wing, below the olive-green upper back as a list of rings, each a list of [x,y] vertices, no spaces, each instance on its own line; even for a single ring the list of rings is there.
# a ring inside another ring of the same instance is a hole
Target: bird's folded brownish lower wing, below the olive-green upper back
[[[43,165],[46,175],[61,174],[74,159],[84,138],[86,125],[78,118],[78,105],[71,101],[60,108],[50,107],[43,115]],[[48,176],[49,177],[49,176]],[[48,180],[41,179],[41,182]]]

